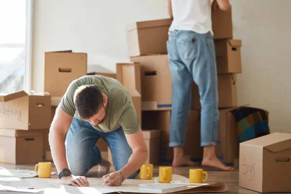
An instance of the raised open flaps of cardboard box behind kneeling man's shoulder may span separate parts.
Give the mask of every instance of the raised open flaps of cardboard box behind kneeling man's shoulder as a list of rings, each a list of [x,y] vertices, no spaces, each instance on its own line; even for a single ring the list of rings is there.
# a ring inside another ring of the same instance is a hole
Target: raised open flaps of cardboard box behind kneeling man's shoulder
[[[127,90],[136,90],[142,95],[141,90],[141,66],[139,63],[117,63],[116,80]]]

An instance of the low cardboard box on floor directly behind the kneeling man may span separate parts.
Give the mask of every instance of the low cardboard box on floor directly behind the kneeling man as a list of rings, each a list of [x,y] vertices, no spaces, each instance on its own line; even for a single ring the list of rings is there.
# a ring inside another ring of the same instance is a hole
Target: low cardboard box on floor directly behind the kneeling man
[[[158,165],[160,163],[161,130],[143,130],[144,140],[148,149],[148,157],[145,163]],[[108,147],[108,161],[113,164],[112,154]]]

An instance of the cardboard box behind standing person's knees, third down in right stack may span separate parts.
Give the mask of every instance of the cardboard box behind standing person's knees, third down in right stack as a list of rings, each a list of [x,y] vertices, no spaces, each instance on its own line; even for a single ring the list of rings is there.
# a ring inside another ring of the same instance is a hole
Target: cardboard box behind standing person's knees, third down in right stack
[[[230,108],[237,106],[236,75],[218,75],[218,108]],[[198,86],[192,86],[192,109],[201,109]]]

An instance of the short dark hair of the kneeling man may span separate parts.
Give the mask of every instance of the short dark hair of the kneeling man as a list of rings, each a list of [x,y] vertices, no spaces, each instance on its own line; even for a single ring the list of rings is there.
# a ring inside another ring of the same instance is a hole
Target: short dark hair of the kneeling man
[[[89,119],[104,107],[101,91],[95,85],[82,85],[74,94],[75,107],[82,119]]]

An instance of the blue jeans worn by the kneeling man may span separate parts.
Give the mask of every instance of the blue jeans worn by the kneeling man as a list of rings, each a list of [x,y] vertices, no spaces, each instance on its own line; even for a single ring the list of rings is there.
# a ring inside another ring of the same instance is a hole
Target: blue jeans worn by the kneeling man
[[[132,149],[122,128],[105,133],[74,117],[65,139],[66,157],[73,175],[84,176],[101,161],[101,152],[96,145],[100,137],[111,150],[115,170],[120,170],[128,163]],[[138,173],[136,171],[129,178],[135,178]]]

